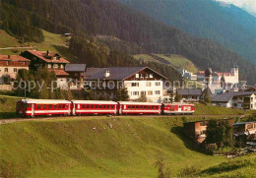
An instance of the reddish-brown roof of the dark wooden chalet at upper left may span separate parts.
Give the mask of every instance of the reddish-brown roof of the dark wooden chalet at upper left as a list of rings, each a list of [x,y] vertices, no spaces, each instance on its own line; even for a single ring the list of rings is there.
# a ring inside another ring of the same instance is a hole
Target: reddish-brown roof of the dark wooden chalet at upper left
[[[69,63],[68,60],[62,58],[58,53],[48,52],[48,51],[37,51],[37,50],[27,50],[25,52],[29,52],[32,55],[38,57],[39,59],[47,62],[47,63]],[[59,58],[53,60],[53,57]]]

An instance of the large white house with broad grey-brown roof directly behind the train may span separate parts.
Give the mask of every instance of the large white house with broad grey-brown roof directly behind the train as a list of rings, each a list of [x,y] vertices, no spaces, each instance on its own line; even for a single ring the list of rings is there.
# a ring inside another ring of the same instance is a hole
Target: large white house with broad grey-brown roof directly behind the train
[[[116,89],[126,88],[130,100],[145,94],[149,101],[160,102],[164,80],[164,76],[148,67],[88,68],[85,74],[85,81],[92,89],[111,99]]]

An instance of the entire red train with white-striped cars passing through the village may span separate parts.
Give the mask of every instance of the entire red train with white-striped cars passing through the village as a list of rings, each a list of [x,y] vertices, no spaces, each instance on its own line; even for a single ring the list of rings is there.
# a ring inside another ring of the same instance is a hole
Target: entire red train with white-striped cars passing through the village
[[[113,102],[97,100],[51,100],[22,99],[17,101],[19,116],[53,115],[151,115],[151,114],[193,114],[195,108],[189,103]]]

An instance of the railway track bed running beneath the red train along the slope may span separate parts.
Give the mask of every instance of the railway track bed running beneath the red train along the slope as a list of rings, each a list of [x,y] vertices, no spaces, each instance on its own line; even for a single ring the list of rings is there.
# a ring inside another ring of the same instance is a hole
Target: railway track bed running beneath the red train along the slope
[[[96,119],[96,117],[246,117],[248,115],[236,115],[236,114],[205,114],[205,115],[121,115],[121,116],[105,116],[105,115],[84,115],[84,116],[59,116],[59,117],[35,117],[35,118],[14,118],[14,119],[0,119],[0,125],[10,124],[15,122],[27,122],[27,121],[47,121],[47,120],[65,120],[65,119]]]

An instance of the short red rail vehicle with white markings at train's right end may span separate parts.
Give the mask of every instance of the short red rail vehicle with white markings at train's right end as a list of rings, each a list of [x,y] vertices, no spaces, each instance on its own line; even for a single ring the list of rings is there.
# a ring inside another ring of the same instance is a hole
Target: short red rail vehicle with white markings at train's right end
[[[193,114],[194,104],[189,103],[167,103],[161,105],[163,114]]]

